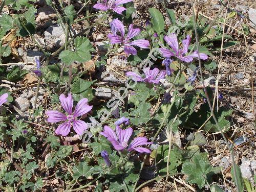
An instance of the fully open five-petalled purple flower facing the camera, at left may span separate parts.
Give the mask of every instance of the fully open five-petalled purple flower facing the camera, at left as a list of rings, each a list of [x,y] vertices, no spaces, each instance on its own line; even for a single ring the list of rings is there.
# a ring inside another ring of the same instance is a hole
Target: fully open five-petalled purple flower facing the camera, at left
[[[66,111],[66,114],[63,114],[59,111],[47,111],[47,121],[50,123],[66,121],[65,123],[60,124],[55,130],[57,135],[67,136],[70,132],[71,125],[73,126],[75,132],[78,135],[81,135],[84,130],[88,129],[88,126],[85,122],[78,120],[77,117],[91,111],[93,106],[88,105],[88,99],[83,98],[77,103],[73,113],[73,98],[70,93],[68,94],[67,98],[65,94],[61,94],[59,96],[59,100],[61,106]]]

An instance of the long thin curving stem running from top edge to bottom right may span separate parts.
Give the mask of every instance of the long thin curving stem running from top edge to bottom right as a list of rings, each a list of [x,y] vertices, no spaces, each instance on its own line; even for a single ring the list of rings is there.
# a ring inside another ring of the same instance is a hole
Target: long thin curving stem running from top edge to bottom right
[[[218,120],[214,114],[214,110],[212,109],[212,106],[211,106],[211,103],[210,103],[210,99],[209,99],[209,95],[207,93],[207,90],[205,88],[205,84],[204,84],[204,80],[203,80],[203,72],[202,72],[202,64],[201,64],[201,59],[200,59],[200,52],[199,52],[199,41],[198,41],[198,34],[197,34],[197,26],[196,26],[196,16],[195,16],[195,11],[194,11],[194,4],[193,4],[193,0],[190,0],[190,3],[191,3],[191,7],[192,7],[192,12],[193,12],[193,17],[194,17],[194,28],[195,28],[195,35],[196,35],[196,44],[197,44],[197,50],[198,50],[198,61],[199,61],[199,70],[200,70],[200,79],[201,79],[201,82],[203,84],[203,89],[204,89],[204,93],[205,93],[205,96],[206,96],[206,100],[207,100],[207,103],[209,105],[209,108],[210,108],[210,112],[211,112],[211,115],[212,117],[214,118],[214,121],[216,123],[216,126],[218,127],[218,130],[219,132],[221,133],[225,143],[226,143],[226,146],[230,152],[230,155],[231,155],[231,159],[232,159],[232,166],[233,166],[233,169],[234,169],[234,182],[236,183],[236,188],[237,188],[237,191],[240,192],[240,189],[238,188],[239,186],[239,183],[238,183],[238,178],[237,178],[237,170],[236,170],[236,162],[234,162],[234,155],[233,155],[233,150],[232,148],[229,147],[229,143],[228,143],[228,140],[227,138],[225,137],[222,129],[220,128],[219,126],[219,123],[218,123]]]

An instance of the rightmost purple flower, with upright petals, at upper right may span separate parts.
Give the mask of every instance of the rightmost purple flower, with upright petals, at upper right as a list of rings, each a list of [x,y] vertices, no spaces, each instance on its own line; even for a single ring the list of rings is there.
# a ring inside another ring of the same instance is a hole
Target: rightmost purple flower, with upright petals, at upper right
[[[176,34],[172,33],[170,36],[164,36],[164,40],[168,43],[168,45],[173,49],[170,51],[166,48],[160,48],[163,56],[166,58],[176,57],[181,61],[189,63],[193,61],[194,58],[198,58],[198,51],[193,52],[193,54],[187,54],[188,46],[190,44],[190,36],[187,35],[186,39],[182,40],[182,49],[179,49],[179,43]],[[206,60],[208,56],[204,53],[200,53],[200,59]]]

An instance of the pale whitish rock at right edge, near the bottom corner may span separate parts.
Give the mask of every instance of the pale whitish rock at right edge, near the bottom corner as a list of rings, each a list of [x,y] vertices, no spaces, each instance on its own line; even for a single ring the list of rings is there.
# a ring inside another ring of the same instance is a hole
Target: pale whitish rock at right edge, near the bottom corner
[[[246,179],[249,179],[253,183],[253,175],[256,174],[256,160],[247,160],[242,158],[240,169],[242,176]]]

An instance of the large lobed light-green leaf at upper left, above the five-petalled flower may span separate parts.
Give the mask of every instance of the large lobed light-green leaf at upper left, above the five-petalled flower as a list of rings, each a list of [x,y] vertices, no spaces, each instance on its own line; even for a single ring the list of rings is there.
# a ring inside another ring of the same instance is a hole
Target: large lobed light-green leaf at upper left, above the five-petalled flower
[[[75,51],[65,50],[59,54],[59,59],[67,65],[71,65],[74,61],[86,62],[91,59],[90,51],[93,51],[93,47],[90,40],[86,37],[76,37]]]

